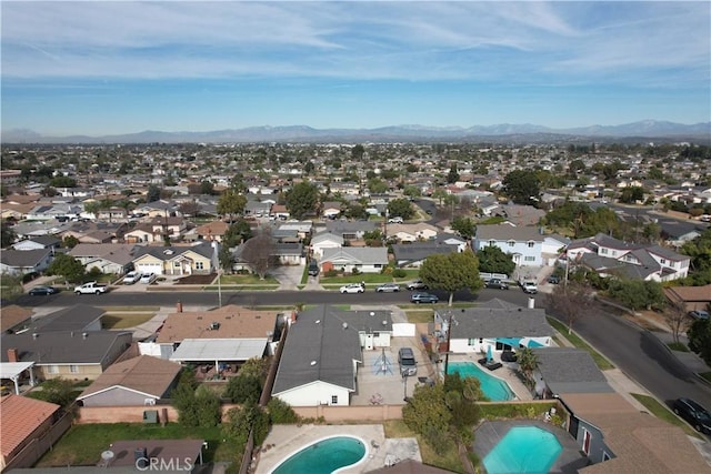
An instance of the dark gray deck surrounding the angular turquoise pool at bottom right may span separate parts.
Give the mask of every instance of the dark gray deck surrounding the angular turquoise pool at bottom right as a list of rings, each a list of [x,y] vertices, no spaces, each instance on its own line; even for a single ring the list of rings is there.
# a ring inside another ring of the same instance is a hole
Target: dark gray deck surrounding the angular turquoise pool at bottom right
[[[551,466],[551,473],[573,474],[588,465],[588,458],[580,454],[580,446],[575,443],[567,431],[535,420],[511,420],[502,422],[483,422],[474,430],[473,450],[482,460],[494,448],[507,432],[513,426],[538,426],[553,434],[563,451]]]

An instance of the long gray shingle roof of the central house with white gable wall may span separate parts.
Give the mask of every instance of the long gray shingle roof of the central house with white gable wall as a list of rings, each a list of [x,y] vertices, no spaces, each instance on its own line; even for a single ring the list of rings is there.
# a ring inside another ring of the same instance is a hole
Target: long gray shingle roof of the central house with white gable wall
[[[356,321],[331,306],[300,313],[289,329],[272,394],[316,381],[356,390],[353,361],[362,362]]]

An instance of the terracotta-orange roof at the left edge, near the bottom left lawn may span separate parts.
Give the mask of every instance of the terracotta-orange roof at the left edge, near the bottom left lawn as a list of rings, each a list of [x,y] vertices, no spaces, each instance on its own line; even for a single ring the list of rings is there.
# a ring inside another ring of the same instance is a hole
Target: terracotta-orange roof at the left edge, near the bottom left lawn
[[[2,455],[10,455],[59,409],[60,406],[53,403],[20,395],[6,395],[0,399],[0,440],[2,440],[0,452]]]

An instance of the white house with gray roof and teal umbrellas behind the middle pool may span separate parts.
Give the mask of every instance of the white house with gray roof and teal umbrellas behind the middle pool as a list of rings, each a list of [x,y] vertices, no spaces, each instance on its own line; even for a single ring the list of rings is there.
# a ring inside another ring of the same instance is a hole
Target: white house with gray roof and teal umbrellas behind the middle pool
[[[451,334],[450,330],[451,320]],[[449,351],[462,354],[500,354],[523,347],[549,347],[553,327],[540,309],[521,307],[499,299],[480,306],[434,311],[441,341],[449,337]]]

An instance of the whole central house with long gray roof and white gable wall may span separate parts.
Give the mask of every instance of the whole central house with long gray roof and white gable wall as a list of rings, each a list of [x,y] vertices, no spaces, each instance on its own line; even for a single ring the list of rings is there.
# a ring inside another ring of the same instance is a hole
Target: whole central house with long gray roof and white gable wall
[[[272,396],[292,406],[349,405],[363,362],[359,331],[328,306],[291,321]]]

